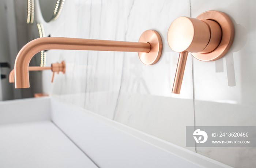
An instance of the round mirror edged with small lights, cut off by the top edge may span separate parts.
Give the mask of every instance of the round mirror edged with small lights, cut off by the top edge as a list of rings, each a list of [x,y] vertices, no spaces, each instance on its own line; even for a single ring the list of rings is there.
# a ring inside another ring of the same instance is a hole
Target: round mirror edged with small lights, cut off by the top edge
[[[45,22],[59,17],[65,0],[39,0],[42,16]]]

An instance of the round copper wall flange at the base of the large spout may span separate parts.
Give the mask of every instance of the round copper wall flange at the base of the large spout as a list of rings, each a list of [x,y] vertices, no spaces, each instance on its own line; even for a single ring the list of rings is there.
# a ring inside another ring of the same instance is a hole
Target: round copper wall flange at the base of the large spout
[[[155,30],[146,30],[140,36],[139,42],[150,43],[150,51],[148,53],[138,53],[140,61],[146,65],[157,63],[163,48],[160,34]]]

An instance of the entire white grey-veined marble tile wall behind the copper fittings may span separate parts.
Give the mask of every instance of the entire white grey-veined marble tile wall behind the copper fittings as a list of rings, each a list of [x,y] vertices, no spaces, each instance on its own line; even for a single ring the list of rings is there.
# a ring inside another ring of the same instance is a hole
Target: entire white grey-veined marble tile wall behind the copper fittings
[[[147,66],[137,53],[49,50],[47,65],[64,60],[66,73],[50,83],[51,72],[44,71],[44,92],[184,148],[185,126],[256,125],[255,8],[254,0],[66,0],[53,22],[45,23],[37,13],[46,34],[137,42],[143,31],[153,29],[161,34],[163,53],[157,64]],[[167,44],[168,28],[179,16],[207,10],[231,17],[234,45],[219,61],[194,59],[194,74],[189,54],[181,93],[172,94],[178,53]],[[256,166],[255,148],[188,149],[233,167]]]

